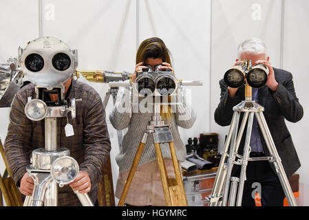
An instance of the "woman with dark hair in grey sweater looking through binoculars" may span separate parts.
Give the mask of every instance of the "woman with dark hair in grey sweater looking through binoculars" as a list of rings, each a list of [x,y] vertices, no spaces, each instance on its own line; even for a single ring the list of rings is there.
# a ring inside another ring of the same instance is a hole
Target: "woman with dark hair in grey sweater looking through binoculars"
[[[132,76],[132,81],[135,82],[136,73],[142,72],[142,68],[148,66],[151,67],[151,69],[155,69],[156,65],[162,65],[162,67],[159,67],[161,71],[164,69],[171,69],[171,71],[173,71],[169,50],[161,39],[153,37],[143,41],[138,48],[136,54],[136,69]],[[130,92],[129,87],[120,87],[116,98],[116,104],[109,115],[109,120],[115,129],[128,129],[127,133],[122,138],[120,152],[116,155],[116,162],[119,166],[119,176],[115,194],[118,198],[120,198],[122,194],[142,135],[145,133],[147,124],[153,115],[151,112],[132,112],[129,96]],[[184,102],[178,104],[175,113],[171,112],[171,108],[169,107],[167,112],[160,114],[165,124],[171,124],[175,151],[180,164],[180,162],[186,158],[187,151],[180,138],[178,126],[186,129],[191,128],[195,122],[195,113],[184,100]],[[164,163],[167,168],[167,174],[169,177],[175,178],[169,144],[160,145]],[[144,150],[142,151],[138,167],[136,168],[134,178],[129,187],[129,192],[127,193],[126,203],[131,206],[165,206],[160,171],[158,169],[158,161],[152,135],[148,136]]]

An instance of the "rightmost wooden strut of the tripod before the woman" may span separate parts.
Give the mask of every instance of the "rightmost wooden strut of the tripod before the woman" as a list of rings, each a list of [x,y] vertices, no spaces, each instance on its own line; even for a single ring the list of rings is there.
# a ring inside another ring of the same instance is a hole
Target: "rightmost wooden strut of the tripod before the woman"
[[[184,184],[182,181],[182,175],[180,173],[180,168],[179,168],[178,159],[176,156],[174,142],[169,142],[169,148],[171,151],[171,159],[173,161],[173,166],[174,166],[174,171],[175,171],[175,179],[177,181],[177,185],[180,187],[180,191],[182,194],[182,199],[181,199],[182,206],[188,206],[187,196],[186,196],[186,192],[184,191]]]

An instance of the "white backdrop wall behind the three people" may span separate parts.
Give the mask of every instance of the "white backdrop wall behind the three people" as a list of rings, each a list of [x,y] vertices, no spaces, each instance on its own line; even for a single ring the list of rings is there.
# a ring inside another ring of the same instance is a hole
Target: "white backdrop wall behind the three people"
[[[297,96],[304,108],[303,119],[288,123],[302,166],[301,206],[309,205],[309,167],[306,148],[308,98],[306,98],[306,54],[309,50],[306,0],[2,0],[0,2],[0,63],[17,56],[17,48],[42,36],[55,36],[78,50],[78,69],[133,72],[138,45],[151,36],[160,37],[169,47],[175,74],[183,80],[201,80],[192,87],[192,104],[198,118],[193,128],[181,129],[182,141],[200,133],[220,135],[220,149],[228,126],[215,124],[213,113],[220,98],[219,80],[233,65],[237,45],[251,37],[268,46],[270,62],[294,76]],[[39,17],[41,12],[41,19]],[[107,85],[89,83],[102,98]],[[112,101],[106,109],[107,119]],[[4,142],[10,109],[0,109],[1,139]],[[116,131],[107,120],[111,137],[111,165],[114,186],[118,166]],[[308,131],[308,130],[307,130]],[[2,161],[1,161],[2,163]],[[3,173],[3,163],[0,171]],[[116,201],[118,201],[116,199]]]

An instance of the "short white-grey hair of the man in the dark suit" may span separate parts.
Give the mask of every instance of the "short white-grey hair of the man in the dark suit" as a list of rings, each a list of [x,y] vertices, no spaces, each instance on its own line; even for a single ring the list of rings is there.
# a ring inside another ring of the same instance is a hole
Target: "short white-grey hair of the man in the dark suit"
[[[248,54],[265,54],[267,57],[267,47],[264,42],[260,39],[253,38],[247,39],[246,41],[239,44],[237,48],[237,57],[240,60],[242,53]]]

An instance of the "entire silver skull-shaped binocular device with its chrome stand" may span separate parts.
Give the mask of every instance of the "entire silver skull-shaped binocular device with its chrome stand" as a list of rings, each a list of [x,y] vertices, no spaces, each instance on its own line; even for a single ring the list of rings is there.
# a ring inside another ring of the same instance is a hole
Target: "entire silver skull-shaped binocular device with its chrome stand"
[[[24,206],[58,206],[57,185],[70,184],[79,170],[70,151],[57,147],[57,118],[67,117],[69,112],[72,119],[76,118],[78,100],[72,98],[69,106],[65,100],[65,83],[76,71],[77,50],[45,36],[29,42],[24,49],[19,47],[18,60],[25,77],[36,86],[36,97],[28,97],[25,104],[25,115],[32,121],[45,120],[45,148],[32,151],[27,171],[34,179],[34,190],[31,197],[26,197]],[[74,135],[69,123],[65,135]],[[76,195],[83,206],[93,206],[87,193],[76,192]]]

